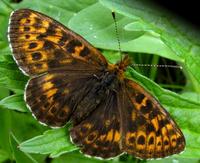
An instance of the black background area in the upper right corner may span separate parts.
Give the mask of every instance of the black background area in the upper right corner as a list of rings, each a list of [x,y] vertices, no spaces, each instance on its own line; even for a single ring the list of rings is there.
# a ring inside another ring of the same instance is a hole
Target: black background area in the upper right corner
[[[199,0],[152,0],[191,24],[200,27]]]

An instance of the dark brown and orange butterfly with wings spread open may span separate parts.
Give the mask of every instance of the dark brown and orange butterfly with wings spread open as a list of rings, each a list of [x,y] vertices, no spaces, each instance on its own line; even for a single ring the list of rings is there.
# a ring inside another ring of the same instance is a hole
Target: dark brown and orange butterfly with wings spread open
[[[11,14],[8,39],[14,60],[30,76],[25,101],[51,127],[72,123],[82,153],[112,158],[163,158],[180,153],[185,138],[147,90],[125,77],[126,55],[116,64],[80,35],[30,9]]]

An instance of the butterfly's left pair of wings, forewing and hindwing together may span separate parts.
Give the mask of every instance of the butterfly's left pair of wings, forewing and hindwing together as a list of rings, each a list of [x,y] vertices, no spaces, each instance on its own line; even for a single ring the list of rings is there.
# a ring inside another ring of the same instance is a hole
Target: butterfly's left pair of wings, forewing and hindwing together
[[[105,58],[78,34],[29,9],[11,14],[8,38],[15,61],[31,76],[25,90],[31,112],[44,124],[63,126],[90,92],[94,74],[106,67]]]

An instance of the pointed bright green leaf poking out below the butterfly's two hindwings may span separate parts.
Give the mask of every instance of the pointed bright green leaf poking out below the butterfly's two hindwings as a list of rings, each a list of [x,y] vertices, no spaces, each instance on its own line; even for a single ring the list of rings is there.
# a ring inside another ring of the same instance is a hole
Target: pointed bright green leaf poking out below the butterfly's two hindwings
[[[50,154],[50,157],[58,157],[77,149],[70,143],[66,128],[45,131],[43,135],[21,143],[19,148],[27,153]]]

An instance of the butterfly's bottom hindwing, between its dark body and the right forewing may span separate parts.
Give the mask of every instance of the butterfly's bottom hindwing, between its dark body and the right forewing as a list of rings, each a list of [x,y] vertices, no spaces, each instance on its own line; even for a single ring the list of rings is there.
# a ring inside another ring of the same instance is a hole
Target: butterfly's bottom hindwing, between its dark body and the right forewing
[[[117,156],[122,153],[119,120],[116,94],[107,91],[95,111],[71,129],[72,141],[84,154],[101,158]]]

